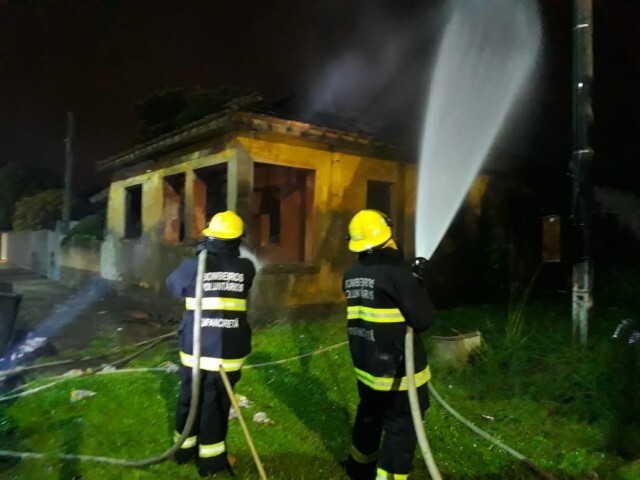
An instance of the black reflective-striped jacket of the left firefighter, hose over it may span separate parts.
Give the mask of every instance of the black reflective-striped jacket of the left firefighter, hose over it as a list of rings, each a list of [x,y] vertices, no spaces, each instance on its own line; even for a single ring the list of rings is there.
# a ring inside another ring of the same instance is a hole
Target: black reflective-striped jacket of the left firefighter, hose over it
[[[209,240],[203,280],[200,368],[240,370],[251,352],[251,328],[247,322],[247,296],[255,277],[251,260],[240,257],[239,241]],[[185,299],[180,325],[180,361],[193,366],[193,317],[198,258],[184,260],[167,277],[167,288]]]

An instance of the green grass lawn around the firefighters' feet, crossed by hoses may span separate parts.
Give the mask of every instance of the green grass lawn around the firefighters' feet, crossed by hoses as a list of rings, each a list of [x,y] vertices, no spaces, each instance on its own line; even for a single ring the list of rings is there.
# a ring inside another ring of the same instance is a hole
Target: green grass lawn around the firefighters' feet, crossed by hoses
[[[485,346],[463,370],[438,366],[434,359],[433,385],[462,415],[556,478],[597,474],[600,479],[640,479],[640,440],[634,433],[640,432],[634,409],[640,405],[634,383],[638,356],[609,341],[626,312],[622,307],[597,312],[589,347],[573,347],[570,314],[563,305],[529,305],[522,311],[520,335],[505,333],[507,306],[441,312],[430,334],[478,329]],[[254,332],[249,363],[288,358],[344,340],[344,320],[338,317],[275,324]],[[157,366],[176,356],[175,343],[168,342],[130,366]],[[44,381],[36,379],[33,385]],[[76,389],[96,395],[73,403],[70,393]],[[167,373],[70,379],[0,404],[1,447],[134,459],[156,456],[171,446],[177,389],[177,376]],[[346,346],[245,369],[236,390],[253,402],[243,413],[270,479],[345,478],[338,461],[348,452],[357,404]],[[258,411],[266,412],[275,425],[251,422]],[[435,400],[426,425],[446,479],[535,478]],[[238,457],[236,478],[258,478],[237,421],[231,423],[228,445]],[[428,478],[418,456],[414,466],[412,478]],[[193,465],[173,462],[127,469],[52,457],[0,460],[0,478],[180,480],[197,478],[197,473]]]

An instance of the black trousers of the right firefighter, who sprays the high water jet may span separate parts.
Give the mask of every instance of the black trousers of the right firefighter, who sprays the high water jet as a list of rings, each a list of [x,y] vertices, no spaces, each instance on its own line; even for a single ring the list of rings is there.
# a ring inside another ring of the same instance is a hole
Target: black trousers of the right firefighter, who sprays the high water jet
[[[353,427],[347,474],[358,480],[375,479],[376,470],[377,478],[383,479],[392,479],[394,474],[407,475],[417,443],[409,395],[406,391],[373,390],[360,382],[358,394],[360,403]],[[427,384],[418,388],[418,399],[424,416],[429,408]]]

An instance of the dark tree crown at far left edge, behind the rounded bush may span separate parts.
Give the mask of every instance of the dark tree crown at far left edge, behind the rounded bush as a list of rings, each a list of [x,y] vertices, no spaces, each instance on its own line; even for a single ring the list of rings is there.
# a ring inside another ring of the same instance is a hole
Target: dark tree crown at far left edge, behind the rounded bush
[[[10,230],[16,202],[35,193],[56,188],[59,180],[45,168],[8,163],[0,168],[0,230]]]

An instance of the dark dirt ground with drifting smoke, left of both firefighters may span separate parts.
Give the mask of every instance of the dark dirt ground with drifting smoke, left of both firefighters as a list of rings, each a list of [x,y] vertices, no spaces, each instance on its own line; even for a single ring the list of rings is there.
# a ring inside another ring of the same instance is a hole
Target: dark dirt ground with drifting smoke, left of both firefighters
[[[0,282],[22,295],[16,336],[46,336],[60,355],[71,356],[96,339],[113,346],[137,343],[176,329],[181,303],[138,286],[106,281],[68,288],[29,270],[0,263]]]

